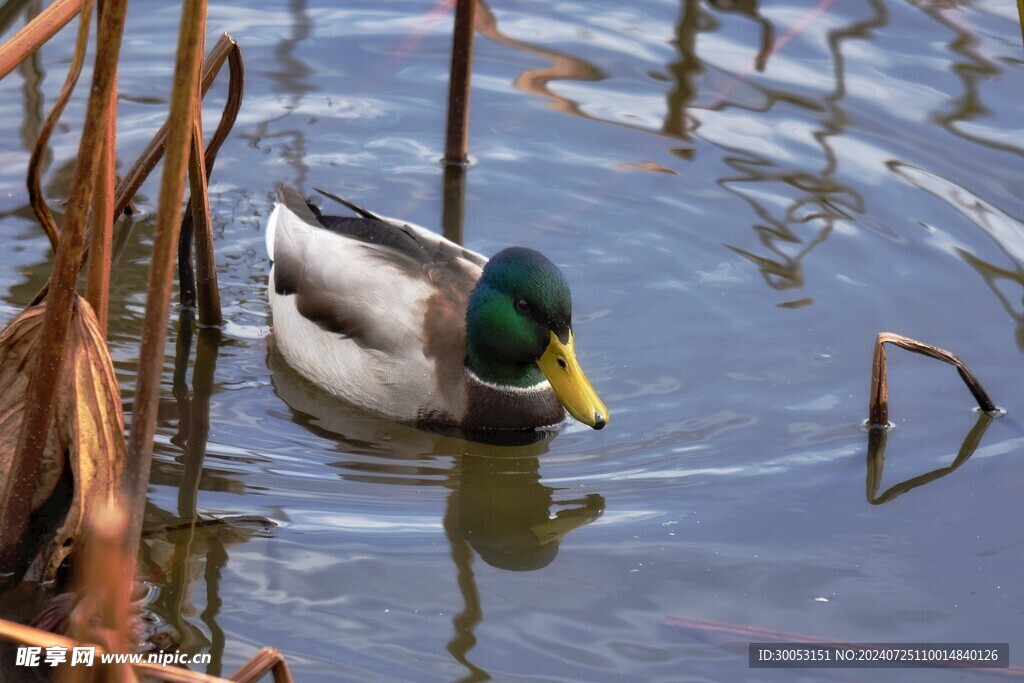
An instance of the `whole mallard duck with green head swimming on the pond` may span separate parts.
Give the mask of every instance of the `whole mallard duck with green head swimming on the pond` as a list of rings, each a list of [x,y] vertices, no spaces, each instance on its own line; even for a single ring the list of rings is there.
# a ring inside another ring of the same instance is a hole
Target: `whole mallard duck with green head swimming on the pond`
[[[428,428],[538,429],[565,411],[608,423],[577,362],[558,266],[522,247],[487,260],[322,194],[356,216],[325,216],[281,189],[266,230],[274,342],[300,375]]]

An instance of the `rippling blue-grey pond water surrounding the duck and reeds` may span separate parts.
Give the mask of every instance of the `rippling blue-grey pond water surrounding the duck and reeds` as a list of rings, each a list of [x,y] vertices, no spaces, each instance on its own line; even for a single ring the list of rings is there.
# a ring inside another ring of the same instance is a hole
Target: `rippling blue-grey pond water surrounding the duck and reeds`
[[[34,4],[4,6],[4,36]],[[131,3],[124,168],[166,115],[171,4]],[[179,335],[172,311],[143,548],[181,649],[226,675],[272,645],[300,681],[895,680],[749,669],[769,631],[1009,642],[1024,665],[1014,4],[481,5],[464,243],[561,266],[612,416],[502,447],[317,392],[273,353],[266,303],[279,184],[439,229],[451,27],[443,1],[210,8],[209,42],[231,33],[247,65],[211,179],[227,323]],[[24,173],[71,36],[0,83],[2,322],[48,272]],[[83,110],[79,93],[53,140],[56,208]],[[156,188],[115,275],[126,410]],[[862,423],[881,331],[958,354],[1009,416],[980,420],[953,369],[890,350],[876,488]],[[962,446],[948,476],[890,490]],[[226,521],[161,530],[191,510]]]

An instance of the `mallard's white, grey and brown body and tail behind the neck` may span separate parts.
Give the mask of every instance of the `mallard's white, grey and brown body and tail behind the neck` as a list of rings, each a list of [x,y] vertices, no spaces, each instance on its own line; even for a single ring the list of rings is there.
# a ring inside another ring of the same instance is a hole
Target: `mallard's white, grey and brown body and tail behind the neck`
[[[279,196],[267,241],[286,359],[372,410],[457,420],[466,303],[486,259],[416,225],[358,208],[318,216],[294,190]]]

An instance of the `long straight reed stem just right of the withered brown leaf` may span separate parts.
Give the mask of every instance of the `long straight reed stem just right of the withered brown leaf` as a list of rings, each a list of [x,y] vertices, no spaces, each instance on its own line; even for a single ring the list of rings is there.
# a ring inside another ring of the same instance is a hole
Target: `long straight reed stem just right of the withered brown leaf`
[[[203,60],[201,37],[205,33],[205,0],[185,0],[181,9],[171,110],[168,115],[168,123],[171,125],[165,147],[164,174],[160,185],[153,263],[150,269],[150,286],[142,327],[142,346],[139,353],[131,433],[128,437],[125,493],[133,511],[128,527],[130,557],[136,556],[138,552],[142,510],[150,482],[153,437],[156,431],[157,407],[160,401],[164,369],[164,342],[167,338],[171,281],[181,219],[181,196],[184,191],[188,147],[193,136],[191,120],[200,90],[199,74]]]

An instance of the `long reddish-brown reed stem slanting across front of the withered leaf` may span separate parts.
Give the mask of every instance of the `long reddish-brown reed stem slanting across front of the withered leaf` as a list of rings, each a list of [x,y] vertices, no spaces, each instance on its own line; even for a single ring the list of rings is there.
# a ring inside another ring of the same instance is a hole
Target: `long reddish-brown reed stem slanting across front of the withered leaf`
[[[12,495],[0,508],[0,528],[8,538],[24,533],[31,509],[32,492],[39,463],[46,446],[58,380],[68,355],[67,344],[75,301],[75,284],[82,259],[86,222],[92,187],[96,179],[99,157],[104,146],[106,111],[111,103],[114,74],[117,73],[124,29],[126,0],[110,0],[106,20],[97,36],[96,66],[86,109],[78,163],[72,179],[70,203],[56,259],[53,264],[50,291],[47,294],[46,316],[40,336],[31,382],[26,395],[25,416],[18,439],[17,458],[11,472]],[[0,566],[15,561],[16,549],[6,543],[0,547]]]

